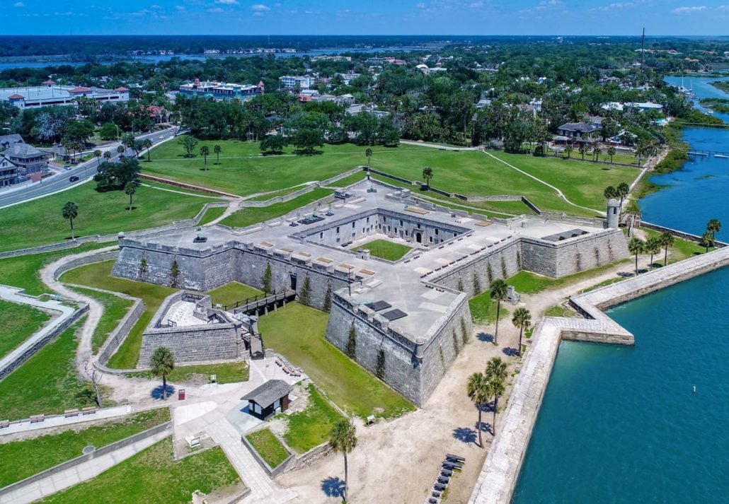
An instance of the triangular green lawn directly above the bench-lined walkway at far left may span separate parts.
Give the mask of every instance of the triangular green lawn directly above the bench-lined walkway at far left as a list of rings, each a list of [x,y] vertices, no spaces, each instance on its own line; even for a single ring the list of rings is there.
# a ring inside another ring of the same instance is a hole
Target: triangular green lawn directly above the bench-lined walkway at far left
[[[0,382],[1,419],[60,414],[64,409],[95,405],[93,387],[79,381],[74,363],[76,331],[83,320],[52,339]]]

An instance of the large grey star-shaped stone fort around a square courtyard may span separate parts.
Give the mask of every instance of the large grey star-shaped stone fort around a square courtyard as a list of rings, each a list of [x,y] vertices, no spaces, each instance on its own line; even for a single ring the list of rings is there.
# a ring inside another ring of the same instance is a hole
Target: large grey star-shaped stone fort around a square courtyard
[[[329,309],[327,339],[344,352],[354,334],[356,362],[420,406],[467,342],[469,297],[522,269],[563,277],[628,257],[612,208],[608,221],[489,220],[366,181],[334,201],[243,229],[120,237],[112,275],[189,291],[232,281],[262,289],[268,269],[271,291],[305,291],[311,306]],[[374,238],[410,251],[387,261],[354,250]],[[165,341],[174,351],[185,347],[184,337]]]

